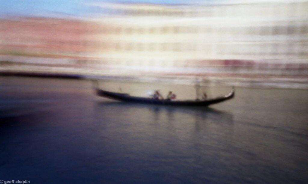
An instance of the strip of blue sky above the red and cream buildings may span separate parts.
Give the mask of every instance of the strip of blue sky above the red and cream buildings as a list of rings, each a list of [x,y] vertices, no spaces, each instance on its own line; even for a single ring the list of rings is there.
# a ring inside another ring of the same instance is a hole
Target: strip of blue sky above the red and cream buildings
[[[154,4],[229,4],[251,2],[290,2],[307,0],[0,0],[0,16],[85,16],[91,2],[133,2]]]

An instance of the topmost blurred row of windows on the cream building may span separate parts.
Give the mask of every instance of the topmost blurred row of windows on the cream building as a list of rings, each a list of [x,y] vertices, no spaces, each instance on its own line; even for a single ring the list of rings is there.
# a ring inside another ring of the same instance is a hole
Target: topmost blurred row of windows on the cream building
[[[141,7],[141,6],[140,6]],[[303,14],[308,3],[289,4],[251,4],[251,5],[229,5],[229,6],[204,6],[204,7],[168,7],[161,9],[125,9],[90,6],[89,11],[96,14],[109,15],[133,15],[133,16],[175,16],[175,17],[216,17],[216,16],[260,16],[260,12],[266,15]]]

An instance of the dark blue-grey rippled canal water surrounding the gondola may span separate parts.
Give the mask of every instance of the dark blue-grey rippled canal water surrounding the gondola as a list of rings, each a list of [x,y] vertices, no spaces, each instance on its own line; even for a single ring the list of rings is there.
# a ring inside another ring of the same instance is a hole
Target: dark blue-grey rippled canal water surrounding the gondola
[[[194,94],[192,86],[100,86]],[[86,80],[1,77],[0,180],[305,183],[307,103],[307,90],[236,88],[210,108],[138,105],[97,97]]]

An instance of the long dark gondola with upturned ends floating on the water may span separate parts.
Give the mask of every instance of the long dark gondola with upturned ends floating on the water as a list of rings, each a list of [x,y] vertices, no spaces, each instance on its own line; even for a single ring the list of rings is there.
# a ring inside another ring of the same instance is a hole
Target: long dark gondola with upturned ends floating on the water
[[[101,97],[110,98],[122,102],[134,102],[134,103],[156,104],[156,105],[177,105],[177,106],[208,106],[212,104],[217,104],[233,98],[235,93],[234,88],[232,88],[232,91],[229,94],[222,97],[210,98],[206,100],[179,101],[179,100],[158,100],[153,98],[135,97],[135,96],[130,96],[127,93],[115,93],[106,90],[101,90],[98,87],[96,87],[95,90],[96,94]]]

